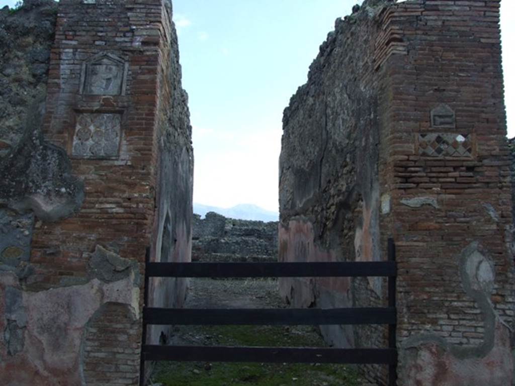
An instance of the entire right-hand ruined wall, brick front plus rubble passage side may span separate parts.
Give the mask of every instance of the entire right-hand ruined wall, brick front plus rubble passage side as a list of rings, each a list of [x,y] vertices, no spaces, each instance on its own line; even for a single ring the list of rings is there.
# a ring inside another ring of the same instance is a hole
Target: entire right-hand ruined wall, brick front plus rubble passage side
[[[284,111],[282,261],[397,245],[399,385],[512,384],[513,244],[499,0],[368,0]],[[281,280],[296,306],[384,306],[380,278]],[[385,347],[381,326],[326,326]],[[371,380],[384,380],[369,366]]]

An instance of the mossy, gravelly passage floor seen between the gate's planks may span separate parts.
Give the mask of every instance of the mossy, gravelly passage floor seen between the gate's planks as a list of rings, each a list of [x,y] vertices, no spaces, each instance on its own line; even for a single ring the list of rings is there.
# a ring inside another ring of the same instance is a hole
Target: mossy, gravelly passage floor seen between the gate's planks
[[[192,279],[186,308],[283,308],[277,280]],[[324,347],[314,326],[180,326],[171,344]],[[352,366],[333,364],[159,362],[163,386],[361,386]]]

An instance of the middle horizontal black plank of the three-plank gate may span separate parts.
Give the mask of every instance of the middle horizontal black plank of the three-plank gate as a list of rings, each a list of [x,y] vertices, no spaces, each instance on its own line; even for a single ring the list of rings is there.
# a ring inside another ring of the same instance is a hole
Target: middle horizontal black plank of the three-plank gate
[[[143,309],[143,322],[160,325],[328,325],[394,324],[396,309],[369,308],[285,308],[285,309]]]

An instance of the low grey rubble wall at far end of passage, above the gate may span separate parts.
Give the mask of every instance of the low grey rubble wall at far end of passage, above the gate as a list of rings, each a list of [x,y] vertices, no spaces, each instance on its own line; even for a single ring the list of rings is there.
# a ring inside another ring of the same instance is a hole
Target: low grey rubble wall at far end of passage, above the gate
[[[192,259],[277,261],[278,222],[237,220],[209,212],[194,215]]]

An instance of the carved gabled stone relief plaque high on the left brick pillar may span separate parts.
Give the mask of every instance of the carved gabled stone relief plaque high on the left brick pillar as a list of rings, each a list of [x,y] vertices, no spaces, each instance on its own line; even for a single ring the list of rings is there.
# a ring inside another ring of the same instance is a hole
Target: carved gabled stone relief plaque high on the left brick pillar
[[[128,63],[115,55],[101,52],[82,64],[80,93],[88,95],[125,95]]]

